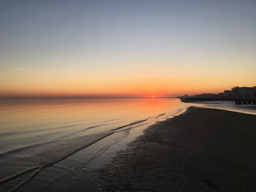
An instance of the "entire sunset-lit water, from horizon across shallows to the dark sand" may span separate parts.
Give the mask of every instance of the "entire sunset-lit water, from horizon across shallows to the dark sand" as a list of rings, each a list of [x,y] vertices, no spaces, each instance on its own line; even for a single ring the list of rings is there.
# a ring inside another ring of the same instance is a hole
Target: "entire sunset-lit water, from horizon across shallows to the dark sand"
[[[67,190],[78,175],[91,189],[91,167],[186,108],[179,99],[0,101],[0,191]]]

